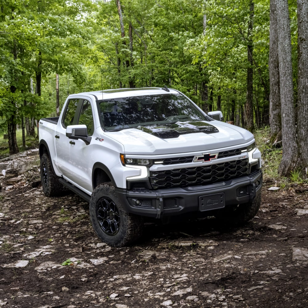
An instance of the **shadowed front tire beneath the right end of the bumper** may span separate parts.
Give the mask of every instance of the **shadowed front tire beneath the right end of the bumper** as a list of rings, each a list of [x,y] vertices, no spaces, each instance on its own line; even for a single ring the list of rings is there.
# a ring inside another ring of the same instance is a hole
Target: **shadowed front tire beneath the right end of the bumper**
[[[261,205],[261,194],[251,202],[218,210],[216,218],[227,225],[242,225],[256,216]]]

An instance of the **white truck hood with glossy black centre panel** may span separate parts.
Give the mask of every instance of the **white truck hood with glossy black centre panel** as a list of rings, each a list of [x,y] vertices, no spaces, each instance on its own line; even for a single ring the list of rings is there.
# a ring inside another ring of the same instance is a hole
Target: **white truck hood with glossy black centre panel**
[[[154,124],[105,132],[124,146],[124,154],[161,155],[208,151],[244,144],[253,139],[249,131],[220,121],[188,121]]]

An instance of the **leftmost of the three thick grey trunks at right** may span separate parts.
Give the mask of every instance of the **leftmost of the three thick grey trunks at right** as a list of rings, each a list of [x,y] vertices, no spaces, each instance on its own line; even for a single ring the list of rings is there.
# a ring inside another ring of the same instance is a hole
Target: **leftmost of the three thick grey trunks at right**
[[[270,0],[270,132],[274,141],[281,130],[281,103],[279,84],[279,59],[278,59],[278,20],[276,1]],[[279,17],[278,17],[279,18]]]

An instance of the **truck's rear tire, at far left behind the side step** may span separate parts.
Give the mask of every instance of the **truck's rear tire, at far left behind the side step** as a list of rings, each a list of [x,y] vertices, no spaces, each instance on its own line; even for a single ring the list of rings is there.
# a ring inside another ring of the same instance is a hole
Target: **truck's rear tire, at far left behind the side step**
[[[63,193],[64,187],[59,182],[59,177],[55,175],[47,153],[41,157],[40,175],[43,192],[46,196],[58,197]]]

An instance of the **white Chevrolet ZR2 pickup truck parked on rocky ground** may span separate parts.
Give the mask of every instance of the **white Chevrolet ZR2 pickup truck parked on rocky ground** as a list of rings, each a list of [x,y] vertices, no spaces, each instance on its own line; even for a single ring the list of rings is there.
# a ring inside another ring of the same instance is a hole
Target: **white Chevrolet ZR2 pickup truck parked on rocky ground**
[[[166,86],[69,95],[59,118],[39,121],[43,191],[57,196],[64,185],[87,200],[111,246],[138,239],[145,217],[249,221],[261,203],[261,153],[250,132],[220,120]]]

